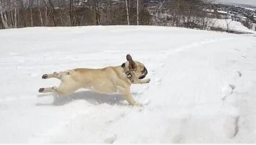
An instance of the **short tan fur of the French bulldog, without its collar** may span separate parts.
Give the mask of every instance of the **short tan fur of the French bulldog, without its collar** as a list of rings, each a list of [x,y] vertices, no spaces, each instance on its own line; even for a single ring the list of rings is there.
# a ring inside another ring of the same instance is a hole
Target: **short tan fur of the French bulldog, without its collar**
[[[80,88],[91,89],[99,93],[119,92],[129,104],[141,106],[141,104],[134,101],[130,87],[131,84],[148,83],[150,79],[139,80],[138,78],[143,75],[145,66],[138,61],[133,61],[132,58],[130,59],[125,62],[125,68],[130,71],[132,71],[132,68],[136,68],[133,71],[133,82],[125,75],[121,66],[109,66],[101,69],[75,68],[43,75],[43,79],[55,77],[60,79],[61,83],[59,87],[40,88],[39,92],[56,92],[59,96],[69,95]],[[133,65],[136,64],[135,67],[129,62],[133,62]]]

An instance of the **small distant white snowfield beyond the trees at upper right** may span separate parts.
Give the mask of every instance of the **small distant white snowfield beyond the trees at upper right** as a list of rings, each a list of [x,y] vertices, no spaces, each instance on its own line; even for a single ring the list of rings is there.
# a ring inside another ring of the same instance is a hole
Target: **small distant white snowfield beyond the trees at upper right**
[[[230,30],[236,30],[236,31],[243,31],[243,32],[249,32],[249,33],[256,33],[256,31],[248,29],[247,27],[243,26],[241,22],[232,21],[231,19],[213,19],[211,26],[212,27],[219,27],[223,29],[227,29],[227,23],[230,22],[228,25]]]

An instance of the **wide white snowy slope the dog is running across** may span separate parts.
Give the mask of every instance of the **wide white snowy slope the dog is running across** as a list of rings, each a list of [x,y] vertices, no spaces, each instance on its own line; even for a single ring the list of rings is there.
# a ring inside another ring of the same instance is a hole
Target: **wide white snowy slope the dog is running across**
[[[41,75],[121,65],[148,69],[118,94],[58,86]],[[0,143],[256,143],[256,37],[176,27],[35,27],[0,30]]]

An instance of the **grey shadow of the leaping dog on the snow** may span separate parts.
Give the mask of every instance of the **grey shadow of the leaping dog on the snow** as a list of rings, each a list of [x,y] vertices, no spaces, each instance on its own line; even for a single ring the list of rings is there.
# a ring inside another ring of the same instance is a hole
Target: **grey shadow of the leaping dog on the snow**
[[[132,93],[136,94],[136,93]],[[93,105],[99,105],[99,104],[109,104],[109,105],[120,105],[120,106],[126,106],[128,105],[126,102],[124,102],[124,98],[120,96],[120,94],[100,94],[93,91],[82,91],[82,92],[75,92],[69,96],[63,97],[57,97],[55,93],[50,94],[53,96],[53,103],[37,103],[36,106],[61,106],[68,104],[75,100],[85,100],[90,104]],[[50,97],[49,94],[40,94],[38,97]]]

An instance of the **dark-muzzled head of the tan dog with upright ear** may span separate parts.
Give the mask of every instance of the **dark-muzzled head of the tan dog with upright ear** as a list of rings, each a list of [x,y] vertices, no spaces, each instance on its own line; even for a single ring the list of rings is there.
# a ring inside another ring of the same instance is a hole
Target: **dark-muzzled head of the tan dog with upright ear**
[[[128,68],[129,71],[133,71],[135,77],[138,79],[143,79],[146,77],[148,70],[143,63],[134,61],[130,54],[127,54],[126,59],[127,62],[125,62],[125,67]]]

